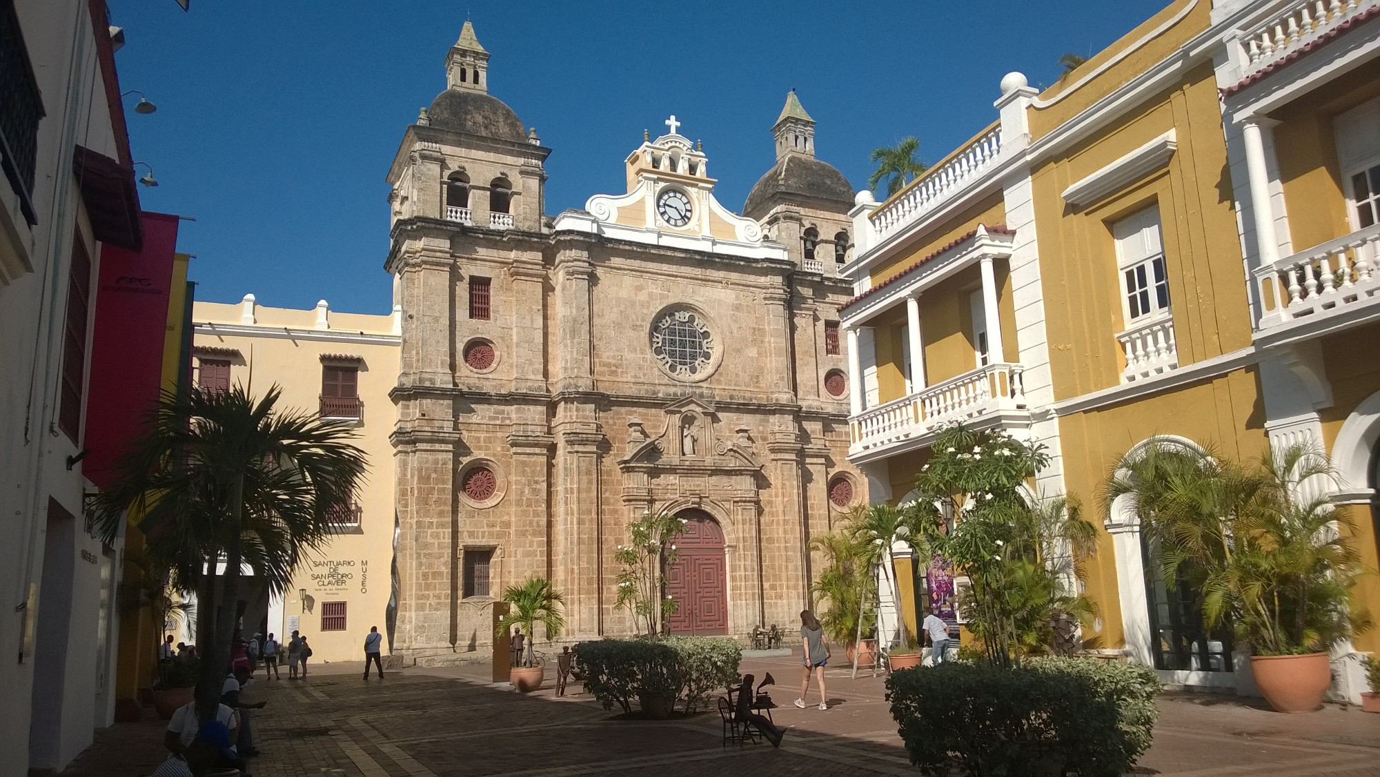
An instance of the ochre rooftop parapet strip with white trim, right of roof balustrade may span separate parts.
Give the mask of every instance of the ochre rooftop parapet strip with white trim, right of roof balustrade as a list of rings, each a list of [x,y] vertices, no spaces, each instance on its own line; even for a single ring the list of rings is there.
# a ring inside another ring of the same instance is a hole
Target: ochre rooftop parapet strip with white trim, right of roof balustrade
[[[1039,99],[1052,99],[1060,95],[1078,83],[1081,77],[1092,73],[1094,69],[1100,68],[1104,62],[1108,62],[1130,48],[1136,41],[1138,41],[1148,32],[1154,30],[1159,25],[1172,19],[1184,6],[1192,3],[1194,0],[1176,0],[1170,3],[1166,8],[1143,22],[1140,26],[1132,32],[1122,36],[1116,43],[1108,46],[1103,51],[1097,52],[1092,59],[1083,63],[1075,73],[1061,79],[1053,87],[1045,90],[1039,95]],[[1072,90],[1061,101],[1054,105],[1038,109],[1032,108],[1029,110],[1029,127],[1031,138],[1038,141],[1045,135],[1050,134],[1060,124],[1064,124],[1074,116],[1087,109],[1090,105],[1098,99],[1107,97],[1116,88],[1125,86],[1132,79],[1145,73],[1156,62],[1170,57],[1177,52],[1179,48],[1190,40],[1192,36],[1208,29],[1210,23],[1212,3],[1202,0],[1198,7],[1194,8],[1183,21],[1176,26],[1159,35],[1158,37],[1150,40],[1145,46],[1130,52],[1125,59],[1111,66],[1097,79],[1083,84],[1082,87]],[[1220,124],[1219,124],[1220,134]],[[1183,141],[1180,139],[1180,144]],[[1230,195],[1230,192],[1228,192]]]

